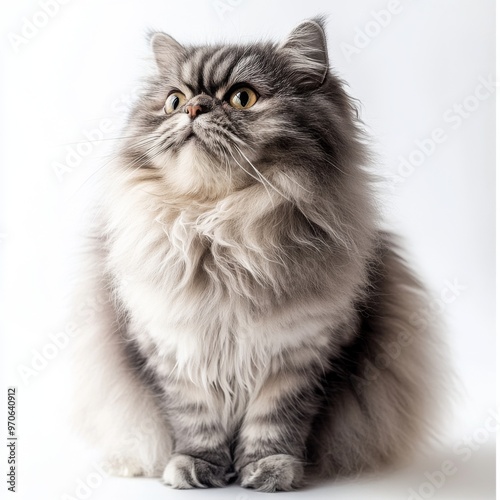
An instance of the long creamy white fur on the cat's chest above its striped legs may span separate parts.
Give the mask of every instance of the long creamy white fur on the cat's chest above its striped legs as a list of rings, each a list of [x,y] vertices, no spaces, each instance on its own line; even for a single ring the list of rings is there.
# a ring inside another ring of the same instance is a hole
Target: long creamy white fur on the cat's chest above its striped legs
[[[116,198],[108,225],[118,296],[137,341],[164,360],[157,369],[228,390],[254,386],[287,350],[326,347],[336,312],[327,296],[273,304],[282,263],[252,223],[281,200],[238,196],[200,211],[136,189]]]

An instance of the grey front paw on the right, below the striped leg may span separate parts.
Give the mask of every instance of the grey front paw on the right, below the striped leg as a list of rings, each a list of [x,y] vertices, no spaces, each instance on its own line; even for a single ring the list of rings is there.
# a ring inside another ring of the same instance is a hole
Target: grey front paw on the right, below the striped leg
[[[250,462],[240,471],[240,484],[258,491],[290,491],[301,485],[302,462],[291,455],[270,455]]]

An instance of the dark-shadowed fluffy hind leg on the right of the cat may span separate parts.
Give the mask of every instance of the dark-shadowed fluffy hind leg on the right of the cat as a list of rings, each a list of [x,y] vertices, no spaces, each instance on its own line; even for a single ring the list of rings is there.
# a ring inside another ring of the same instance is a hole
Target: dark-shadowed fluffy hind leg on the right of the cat
[[[395,252],[381,257],[358,335],[332,360],[313,424],[308,454],[321,477],[411,460],[441,421],[450,391],[430,299]]]

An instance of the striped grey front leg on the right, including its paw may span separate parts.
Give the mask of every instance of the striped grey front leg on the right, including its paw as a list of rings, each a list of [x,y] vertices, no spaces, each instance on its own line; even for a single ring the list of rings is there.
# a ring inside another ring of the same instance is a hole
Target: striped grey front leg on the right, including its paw
[[[287,491],[303,482],[305,443],[317,409],[321,370],[312,363],[296,369],[292,363],[285,366],[261,386],[241,426],[235,458],[244,487]]]

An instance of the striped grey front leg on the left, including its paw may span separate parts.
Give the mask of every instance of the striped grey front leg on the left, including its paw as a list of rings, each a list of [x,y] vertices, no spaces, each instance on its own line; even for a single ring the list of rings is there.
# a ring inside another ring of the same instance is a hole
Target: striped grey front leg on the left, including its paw
[[[174,453],[163,473],[178,489],[225,486],[234,475],[222,394],[190,380],[169,380],[165,389]]]

